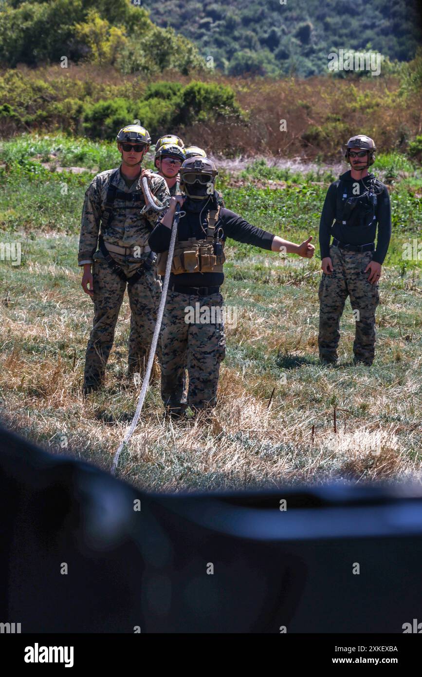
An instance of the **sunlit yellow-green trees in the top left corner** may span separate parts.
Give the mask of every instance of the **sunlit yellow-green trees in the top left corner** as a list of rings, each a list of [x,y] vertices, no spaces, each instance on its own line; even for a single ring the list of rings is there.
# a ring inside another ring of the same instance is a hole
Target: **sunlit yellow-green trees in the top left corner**
[[[1,65],[58,63],[63,56],[114,65],[125,74],[174,68],[186,75],[204,68],[195,45],[153,24],[131,0],[3,0]]]

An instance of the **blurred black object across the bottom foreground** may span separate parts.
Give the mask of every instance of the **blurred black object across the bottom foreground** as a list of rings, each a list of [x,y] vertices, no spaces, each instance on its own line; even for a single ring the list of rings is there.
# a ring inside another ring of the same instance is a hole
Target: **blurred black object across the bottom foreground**
[[[0,435],[0,621],[22,633],[402,633],[422,620],[421,487],[143,494]]]

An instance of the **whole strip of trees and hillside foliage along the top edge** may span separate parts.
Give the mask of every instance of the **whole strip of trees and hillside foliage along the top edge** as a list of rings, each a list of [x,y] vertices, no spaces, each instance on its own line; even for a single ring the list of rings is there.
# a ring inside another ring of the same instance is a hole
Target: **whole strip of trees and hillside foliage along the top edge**
[[[388,70],[412,60],[421,41],[415,0],[0,3],[0,66],[12,68],[63,64],[66,58],[144,77],[166,68],[189,74],[207,67],[236,77],[309,77],[327,74],[328,55],[339,49],[379,52]]]

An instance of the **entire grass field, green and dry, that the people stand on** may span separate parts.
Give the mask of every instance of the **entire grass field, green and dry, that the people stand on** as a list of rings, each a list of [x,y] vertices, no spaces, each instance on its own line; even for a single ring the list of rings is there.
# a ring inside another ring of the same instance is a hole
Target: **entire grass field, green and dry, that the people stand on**
[[[0,416],[49,450],[106,469],[139,394],[125,376],[130,313],[125,297],[106,388],[84,401],[92,307],[76,252],[87,185],[118,163],[113,144],[59,135],[16,137],[0,152],[0,244],[22,246],[20,265],[0,261]],[[156,376],[120,477],[160,491],[419,477],[421,261],[402,253],[404,243],[422,240],[422,175],[398,154],[379,156],[374,170],[390,182],[393,236],[373,366],[352,366],[349,304],[338,366],[318,360],[318,225],[332,170],[302,174],[251,160],[236,176],[222,171],[217,188],[229,209],[289,240],[312,235],[316,256],[283,261],[231,241],[224,296],[237,326],[227,327],[212,421],[162,422]]]

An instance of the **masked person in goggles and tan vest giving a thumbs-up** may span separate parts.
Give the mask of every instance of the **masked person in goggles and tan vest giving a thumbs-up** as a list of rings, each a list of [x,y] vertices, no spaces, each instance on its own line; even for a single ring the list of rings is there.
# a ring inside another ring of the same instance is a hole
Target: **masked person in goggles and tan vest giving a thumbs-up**
[[[166,411],[183,417],[187,406],[194,413],[216,404],[220,362],[225,357],[224,306],[220,285],[224,280],[223,248],[227,237],[263,249],[313,256],[308,238],[302,244],[282,240],[255,227],[216,200],[214,181],[217,171],[208,158],[192,157],[181,167],[181,190],[149,236],[149,246],[160,253],[158,271],[163,273],[168,256],[171,225],[176,204],[183,204],[162,331],[161,394]],[[187,307],[193,318],[187,316]],[[207,314],[208,322],[201,321]],[[193,321],[192,321],[193,320]],[[187,372],[189,386],[186,389]]]

